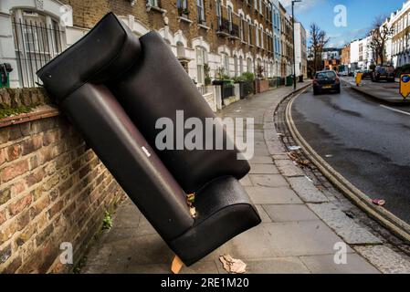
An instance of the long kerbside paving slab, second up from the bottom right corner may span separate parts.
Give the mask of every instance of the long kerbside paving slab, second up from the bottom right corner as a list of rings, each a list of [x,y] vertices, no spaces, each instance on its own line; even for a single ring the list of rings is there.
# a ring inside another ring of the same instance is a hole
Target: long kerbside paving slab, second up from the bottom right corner
[[[348,244],[376,245],[382,243],[378,237],[356,224],[333,203],[308,203],[308,206]]]

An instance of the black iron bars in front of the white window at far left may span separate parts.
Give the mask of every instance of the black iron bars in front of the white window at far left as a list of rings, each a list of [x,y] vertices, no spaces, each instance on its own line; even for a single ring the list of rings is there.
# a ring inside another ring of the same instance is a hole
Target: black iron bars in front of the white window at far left
[[[21,87],[41,85],[36,72],[63,51],[57,23],[46,24],[26,20],[13,20],[17,69]]]

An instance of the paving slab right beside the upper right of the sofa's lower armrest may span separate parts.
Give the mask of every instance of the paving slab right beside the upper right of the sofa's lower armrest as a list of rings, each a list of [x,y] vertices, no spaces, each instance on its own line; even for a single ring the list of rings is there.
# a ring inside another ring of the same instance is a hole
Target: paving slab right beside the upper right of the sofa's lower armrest
[[[245,187],[253,203],[289,204],[303,203],[289,187]]]

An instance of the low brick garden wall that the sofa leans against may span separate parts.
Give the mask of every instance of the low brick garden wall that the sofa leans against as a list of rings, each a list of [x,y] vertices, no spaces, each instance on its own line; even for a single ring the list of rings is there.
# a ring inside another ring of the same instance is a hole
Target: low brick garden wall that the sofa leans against
[[[7,93],[17,103],[16,96],[47,100],[38,89],[21,90]],[[43,105],[0,120],[0,273],[68,272],[73,265],[60,263],[60,244],[71,243],[78,261],[122,196],[58,110]]]

